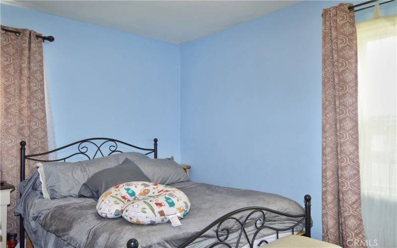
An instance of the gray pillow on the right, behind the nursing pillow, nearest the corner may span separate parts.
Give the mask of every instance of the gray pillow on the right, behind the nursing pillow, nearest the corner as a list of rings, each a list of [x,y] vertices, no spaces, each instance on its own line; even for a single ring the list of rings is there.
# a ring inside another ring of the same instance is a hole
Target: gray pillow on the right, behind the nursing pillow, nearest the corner
[[[133,161],[153,183],[170,185],[189,181],[185,170],[171,158]]]

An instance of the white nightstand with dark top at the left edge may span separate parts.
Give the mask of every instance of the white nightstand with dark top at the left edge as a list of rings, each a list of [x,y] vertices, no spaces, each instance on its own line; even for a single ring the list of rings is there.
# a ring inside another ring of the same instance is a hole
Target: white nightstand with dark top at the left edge
[[[0,186],[0,229],[1,229],[1,242],[0,247],[5,247],[7,241],[7,205],[9,205],[9,198],[11,191],[15,189],[13,185],[4,183]]]

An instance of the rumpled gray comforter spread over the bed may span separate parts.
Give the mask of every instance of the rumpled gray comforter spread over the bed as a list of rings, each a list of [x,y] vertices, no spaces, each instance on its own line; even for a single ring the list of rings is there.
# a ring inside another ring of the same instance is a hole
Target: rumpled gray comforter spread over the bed
[[[172,227],[170,223],[141,226],[131,224],[123,218],[100,217],[96,213],[96,202],[93,199],[43,199],[37,184],[36,180],[30,182],[30,185],[22,185],[23,197],[15,212],[27,218],[25,223],[29,222],[27,224],[30,225],[27,228],[28,234],[39,247],[43,246],[43,241],[36,240],[32,235],[44,235],[45,230],[49,232],[45,234],[48,239],[53,239],[53,235],[62,239],[47,242],[45,246],[124,248],[129,239],[135,238],[139,247],[174,248],[220,216],[238,208],[262,206],[290,214],[304,213],[297,202],[276,194],[184,182],[171,185],[184,191],[192,204],[190,212],[181,220],[182,226]],[[30,209],[29,213],[27,209]],[[287,227],[291,226],[293,221],[291,218],[266,214],[266,224],[269,225]],[[236,222],[227,222],[224,225],[232,231],[239,230]],[[251,222],[247,225],[247,232],[253,234],[254,231],[255,227]],[[265,229],[259,236],[265,237],[272,233],[274,232]],[[232,233],[228,240],[237,240],[237,235],[238,232]],[[215,237],[215,231],[209,230],[193,244],[193,247],[207,247],[216,241]],[[241,245],[245,243],[245,239],[240,242]]]

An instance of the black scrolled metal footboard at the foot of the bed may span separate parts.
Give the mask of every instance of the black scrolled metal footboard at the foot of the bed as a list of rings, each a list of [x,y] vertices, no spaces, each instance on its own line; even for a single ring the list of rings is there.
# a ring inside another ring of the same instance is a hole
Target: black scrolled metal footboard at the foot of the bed
[[[245,207],[245,208],[240,208],[240,209],[234,210],[230,213],[223,215],[219,219],[217,219],[214,222],[212,222],[211,224],[209,224],[207,227],[205,227],[203,230],[201,230],[198,234],[191,237],[185,243],[180,245],[179,248],[186,248],[186,247],[192,245],[194,241],[196,241],[198,238],[200,238],[202,235],[204,235],[207,231],[213,230],[214,228],[216,228],[216,231],[215,231],[216,237],[214,237],[214,238],[216,238],[217,241],[214,242],[212,245],[210,245],[209,248],[213,248],[213,247],[216,247],[219,245],[223,245],[228,248],[232,248],[233,246],[235,246],[237,248],[237,247],[239,247],[241,239],[244,239],[244,238],[247,241],[247,243],[249,244],[250,248],[254,248],[254,243],[256,241],[256,238],[262,230],[267,228],[267,229],[276,231],[276,239],[278,239],[279,232],[285,232],[285,231],[291,230],[291,234],[294,235],[294,232],[295,232],[294,228],[299,226],[303,222],[305,223],[305,233],[303,234],[303,236],[310,238],[311,237],[311,220],[312,220],[312,218],[311,218],[312,197],[309,194],[307,194],[307,195],[305,195],[304,199],[305,199],[305,213],[298,214],[298,215],[282,213],[282,212],[272,210],[269,208],[265,208],[265,207]],[[242,214],[244,212],[248,213],[245,218],[244,217],[242,218],[241,215],[239,216],[239,218],[236,217],[237,215]],[[291,226],[288,226],[286,228],[277,228],[271,224],[269,225],[269,223],[266,223],[266,213],[267,212],[273,213],[273,214],[276,214],[279,216],[296,218],[297,220],[296,220],[296,223]],[[259,216],[255,217],[254,216],[255,214],[259,214]],[[252,221],[253,219],[254,219],[256,231],[255,231],[254,235],[252,236],[252,238],[250,238],[245,230],[245,227],[246,227],[247,222]],[[240,226],[239,230],[234,231],[234,233],[238,232],[239,235],[237,238],[237,243],[233,246],[228,243],[228,238],[229,238],[229,235],[231,234],[231,230],[228,227],[222,227],[222,224],[229,220],[236,222],[236,224]],[[261,240],[260,243],[258,244],[258,246],[261,246],[263,243],[267,244],[268,242],[266,240]],[[130,239],[127,242],[127,248],[138,248],[138,246],[139,246],[139,243],[136,239]]]

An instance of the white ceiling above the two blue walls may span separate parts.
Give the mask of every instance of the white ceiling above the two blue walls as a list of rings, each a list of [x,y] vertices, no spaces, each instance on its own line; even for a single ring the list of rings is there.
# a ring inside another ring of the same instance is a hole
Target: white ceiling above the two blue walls
[[[183,44],[300,1],[8,0],[6,4]]]

